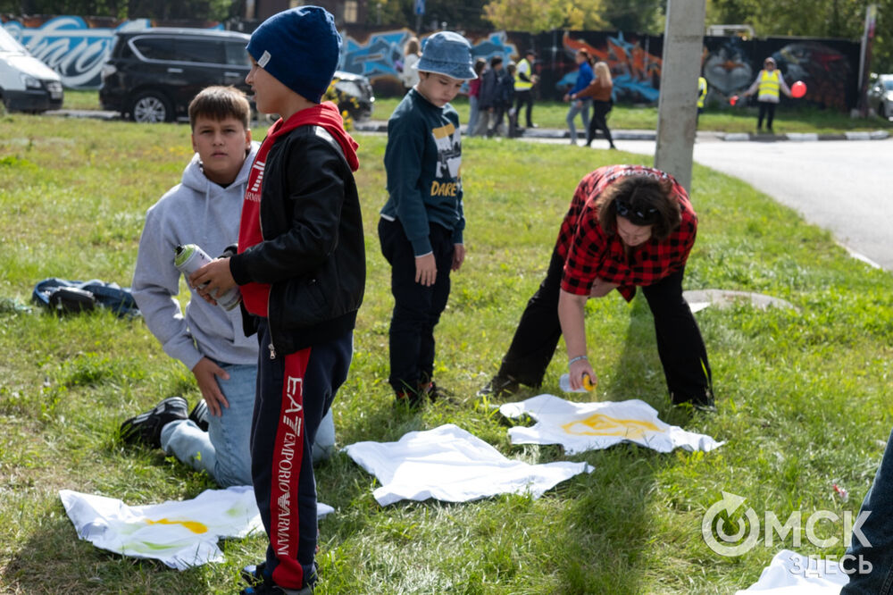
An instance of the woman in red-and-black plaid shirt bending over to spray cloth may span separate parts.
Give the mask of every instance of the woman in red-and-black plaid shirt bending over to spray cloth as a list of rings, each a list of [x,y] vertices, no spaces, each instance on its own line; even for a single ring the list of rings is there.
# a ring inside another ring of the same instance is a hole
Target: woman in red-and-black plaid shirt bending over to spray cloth
[[[636,286],[655,319],[657,352],[676,405],[714,408],[704,339],[682,298],[682,275],[695,244],[697,215],[669,174],[642,165],[609,165],[589,173],[564,215],[546,280],[530,298],[497,375],[481,394],[506,396],[538,387],[563,335],[572,389],[588,376],[583,307],[617,289],[627,301]]]

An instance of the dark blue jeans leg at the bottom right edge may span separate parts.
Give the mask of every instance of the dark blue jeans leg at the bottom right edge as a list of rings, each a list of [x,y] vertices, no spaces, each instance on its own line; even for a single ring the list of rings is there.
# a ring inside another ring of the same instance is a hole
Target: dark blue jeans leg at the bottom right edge
[[[844,569],[852,574],[840,595],[889,595],[893,593],[893,433],[859,509],[860,516],[864,513],[869,516],[861,527],[854,521],[853,541],[847,548],[847,555],[852,558],[843,562]],[[859,527],[861,535],[855,527]],[[861,539],[863,536],[866,542]],[[860,569],[867,566],[866,562],[871,563],[871,571],[862,573]]]

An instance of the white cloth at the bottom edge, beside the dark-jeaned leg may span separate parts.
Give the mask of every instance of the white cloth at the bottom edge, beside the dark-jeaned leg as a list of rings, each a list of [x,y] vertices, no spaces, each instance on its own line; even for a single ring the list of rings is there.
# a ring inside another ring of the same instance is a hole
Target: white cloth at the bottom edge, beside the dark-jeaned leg
[[[790,549],[775,554],[760,579],[735,595],[838,595],[849,582],[839,564],[824,557],[805,557]]]

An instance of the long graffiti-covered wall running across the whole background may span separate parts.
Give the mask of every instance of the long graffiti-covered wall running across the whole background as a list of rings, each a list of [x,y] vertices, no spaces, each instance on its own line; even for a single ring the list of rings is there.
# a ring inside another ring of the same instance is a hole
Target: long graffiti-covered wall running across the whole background
[[[69,88],[98,88],[99,72],[111,49],[114,32],[171,25],[146,19],[112,21],[77,16],[4,21],[3,27],[22,45],[50,65]],[[219,23],[176,23],[178,26],[221,28]],[[250,32],[256,23],[239,23]],[[342,31],[344,51],[339,68],[363,74],[378,96],[400,96],[397,78],[405,41],[411,29],[348,27]],[[513,31],[467,33],[475,58],[500,55],[518,60],[525,50],[537,52],[534,70],[541,99],[559,100],[577,77],[573,55],[580,48],[608,63],[613,77],[613,100],[627,104],[654,104],[660,96],[663,37],[624,31],[551,31],[538,35]],[[705,38],[701,56],[708,84],[708,105],[728,105],[755,80],[766,56],[775,58],[785,80],[803,80],[808,102],[835,110],[855,107],[859,46],[840,39]],[[785,98],[782,98],[784,101]]]

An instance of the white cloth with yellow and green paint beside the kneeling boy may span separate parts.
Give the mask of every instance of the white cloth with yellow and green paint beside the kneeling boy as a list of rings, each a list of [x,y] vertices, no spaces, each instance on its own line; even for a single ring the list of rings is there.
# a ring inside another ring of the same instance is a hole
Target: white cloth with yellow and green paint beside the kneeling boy
[[[153,558],[186,570],[221,562],[221,537],[263,531],[250,486],[204,490],[196,498],[129,507],[119,499],[59,490],[78,537],[122,556]],[[320,503],[318,516],[332,508]]]

